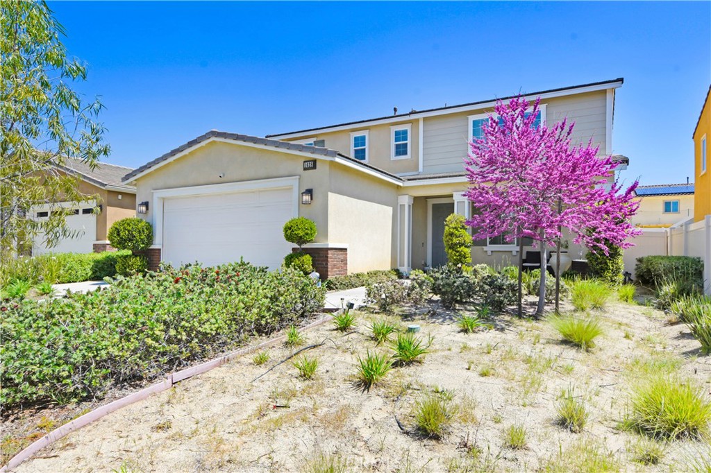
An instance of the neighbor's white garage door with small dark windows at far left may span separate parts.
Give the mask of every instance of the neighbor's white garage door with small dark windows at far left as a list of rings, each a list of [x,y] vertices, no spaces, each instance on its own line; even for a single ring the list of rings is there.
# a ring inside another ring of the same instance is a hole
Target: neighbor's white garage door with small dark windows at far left
[[[36,235],[32,246],[32,254],[40,255],[46,253],[92,253],[94,242],[96,241],[96,214],[94,213],[94,202],[79,204],[60,204],[62,207],[69,207],[75,214],[65,217],[67,228],[72,232],[73,237],[59,241],[57,246],[47,248],[44,244],[44,234]],[[33,209],[34,217],[41,220],[47,217],[50,212],[48,207],[38,207]]]

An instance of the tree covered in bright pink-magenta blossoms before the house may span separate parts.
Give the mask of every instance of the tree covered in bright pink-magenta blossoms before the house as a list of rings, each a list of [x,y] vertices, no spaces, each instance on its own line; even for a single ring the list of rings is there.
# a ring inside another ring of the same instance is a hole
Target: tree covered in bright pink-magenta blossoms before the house
[[[473,238],[503,235],[505,241],[521,242],[528,237],[540,249],[536,315],[545,305],[547,247],[560,243],[564,229],[576,244],[604,254],[606,244],[626,248],[631,246],[626,239],[639,233],[629,222],[638,208],[637,183],[626,190],[609,183],[618,163],[597,156],[592,143],[574,146],[574,124],[565,119],[550,127],[538,124],[539,102],[533,107],[523,97],[498,102],[466,158],[466,197],[475,207],[467,224]]]

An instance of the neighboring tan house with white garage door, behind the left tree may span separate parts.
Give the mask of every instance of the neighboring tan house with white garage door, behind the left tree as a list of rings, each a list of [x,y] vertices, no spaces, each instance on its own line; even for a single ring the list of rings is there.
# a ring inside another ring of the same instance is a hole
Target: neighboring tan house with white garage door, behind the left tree
[[[112,224],[136,215],[136,187],[122,182],[123,176],[132,169],[107,163],[99,163],[97,168],[91,169],[86,163],[72,158],[68,158],[64,165],[56,168],[60,173],[80,178],[79,191],[95,198],[80,205],[75,202],[60,202],[58,205],[73,210],[73,214],[66,218],[67,226],[75,232],[75,236],[62,239],[56,246],[47,248],[40,234],[35,238],[32,254],[91,253],[110,249],[107,232]],[[38,219],[48,217],[49,207],[35,207],[33,216]],[[95,212],[95,208],[98,208],[99,212]]]

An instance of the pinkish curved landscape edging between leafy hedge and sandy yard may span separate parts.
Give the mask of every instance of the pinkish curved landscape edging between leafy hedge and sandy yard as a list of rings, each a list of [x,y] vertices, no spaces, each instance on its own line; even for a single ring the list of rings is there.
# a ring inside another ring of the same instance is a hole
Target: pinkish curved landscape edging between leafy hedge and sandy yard
[[[330,319],[331,316],[329,315],[321,317],[321,319],[315,320],[309,325],[306,325],[306,327],[302,327],[301,329],[299,329],[299,332],[304,332],[305,330],[309,330],[313,327],[318,327],[319,325]],[[29,460],[31,457],[33,457],[33,455],[42,450],[44,447],[52,445],[65,435],[68,435],[74,432],[75,430],[79,430],[80,428],[85,427],[86,425],[89,425],[90,423],[95,422],[96,420],[99,420],[105,415],[108,415],[114,411],[118,411],[120,408],[130,406],[131,404],[137,403],[138,401],[142,401],[151,394],[166,391],[166,389],[173,387],[173,384],[176,384],[180,381],[184,381],[188,378],[191,378],[192,376],[203,374],[207,371],[210,371],[211,369],[215,369],[218,366],[222,366],[223,364],[227,363],[228,361],[232,361],[232,359],[241,357],[248,353],[256,352],[257,350],[262,348],[270,347],[274,344],[284,341],[285,339],[287,339],[287,336],[281,335],[279,337],[267,340],[266,342],[257,344],[253,347],[241,348],[235,352],[225,354],[222,357],[215,358],[210,361],[205,361],[204,363],[198,364],[196,366],[191,366],[190,368],[186,368],[181,371],[176,371],[175,373],[167,375],[161,381],[155,384],[151,384],[151,386],[148,386],[147,388],[141,389],[141,391],[129,394],[128,396],[124,396],[123,398],[117,399],[116,401],[112,401],[106,404],[105,406],[100,406],[91,412],[85,413],[84,415],[80,415],[80,417],[77,417],[74,420],[70,420],[70,422],[65,423],[64,425],[60,425],[60,427],[55,428],[55,430],[52,430],[50,433],[44,435],[38,440],[35,440],[23,450],[18,452],[18,454],[12,457],[10,461],[7,462],[6,465],[4,465],[4,467],[0,468],[0,473],[9,472],[11,469],[18,467],[19,464],[21,464],[22,462]]]

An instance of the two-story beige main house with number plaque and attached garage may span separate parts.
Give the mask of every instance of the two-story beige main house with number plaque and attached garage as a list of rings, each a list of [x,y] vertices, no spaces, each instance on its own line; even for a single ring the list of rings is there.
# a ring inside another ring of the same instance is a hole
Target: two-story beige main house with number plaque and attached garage
[[[527,94],[540,121],[575,121],[575,143],[612,152],[615,91],[609,80]],[[510,97],[504,97],[508,99]],[[452,212],[471,206],[463,160],[495,99],[257,138],[210,131],[132,171],[141,217],[154,226],[151,263],[245,260],[272,268],[292,251],[287,219],[313,219],[306,246],[321,276],[446,263]],[[626,158],[621,157],[626,163]],[[530,247],[528,247],[530,249]],[[574,257],[582,249],[571,248]],[[503,239],[476,241],[475,263],[518,259]]]

